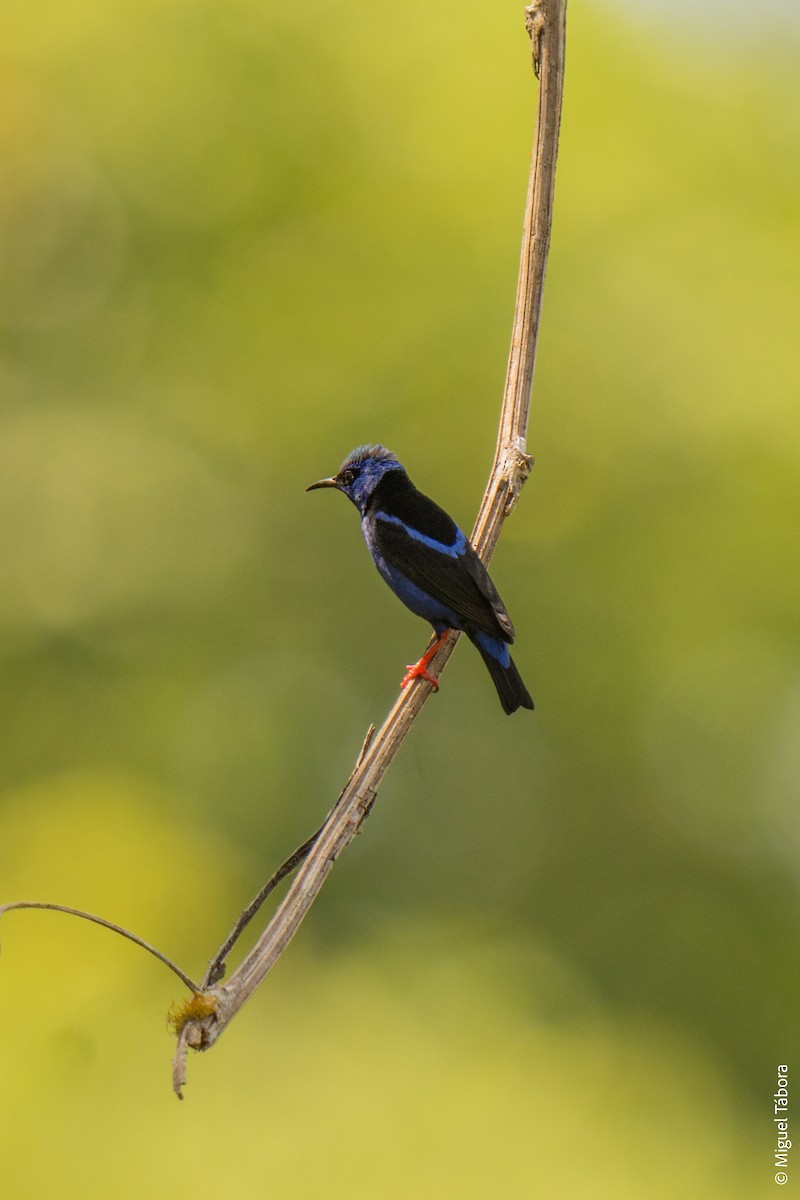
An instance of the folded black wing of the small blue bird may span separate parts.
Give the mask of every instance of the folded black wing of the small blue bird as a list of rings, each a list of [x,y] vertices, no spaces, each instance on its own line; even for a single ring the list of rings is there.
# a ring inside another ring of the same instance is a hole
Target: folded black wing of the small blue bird
[[[419,522],[425,526],[425,536],[440,541],[443,547],[456,546],[461,539],[455,522],[433,500],[421,493],[417,497],[431,505],[431,510],[425,514],[426,520]],[[427,505],[420,504],[420,508],[425,511]],[[414,538],[398,523],[399,514],[392,516],[393,520],[386,521],[378,512],[373,515],[375,541],[386,562],[402,571],[411,583],[458,613],[465,624],[501,637],[504,642],[513,642],[513,625],[503,600],[469,541],[464,538],[462,553],[453,556],[446,553],[446,548],[435,550]],[[439,536],[432,538],[427,533],[428,528],[437,529]],[[449,528],[452,530],[451,538],[445,541],[443,535]]]

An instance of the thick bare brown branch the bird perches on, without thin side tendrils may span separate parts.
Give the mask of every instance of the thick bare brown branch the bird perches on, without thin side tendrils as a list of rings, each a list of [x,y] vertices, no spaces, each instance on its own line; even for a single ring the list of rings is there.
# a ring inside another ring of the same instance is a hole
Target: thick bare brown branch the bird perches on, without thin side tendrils
[[[531,468],[525,439],[553,216],[564,91],[565,18],[566,0],[537,0],[525,10],[540,95],[500,428],[492,473],[471,536],[483,562],[491,558],[503,522],[516,504]],[[458,636],[458,632],[451,632],[437,652],[431,664],[434,674],[438,676],[444,670]],[[317,899],[333,863],[361,828],[387,767],[429,692],[431,684],[421,679],[402,692],[368,749],[362,752],[330,817],[319,834],[314,835],[313,846],[294,883],[255,946],[225,984],[209,986],[203,992],[201,1012],[193,1015],[187,1010],[181,1018],[173,1062],[173,1084],[179,1096],[186,1081],[187,1050],[206,1050],[213,1045],[283,954]],[[222,958],[227,954],[225,947],[223,952]],[[213,967],[215,964],[212,970]]]

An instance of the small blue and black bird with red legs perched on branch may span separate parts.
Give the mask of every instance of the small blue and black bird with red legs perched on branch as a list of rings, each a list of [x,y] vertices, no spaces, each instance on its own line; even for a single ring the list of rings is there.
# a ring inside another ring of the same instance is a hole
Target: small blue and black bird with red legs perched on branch
[[[407,667],[401,686],[425,679],[438,691],[428,665],[447,632],[459,629],[480,652],[505,712],[533,708],[509,653],[515,629],[488,571],[452,517],[417,491],[392,451],[356,446],[336,475],[306,491],[320,487],[333,487],[355,504],[380,575],[407,608],[433,625],[437,641]]]

